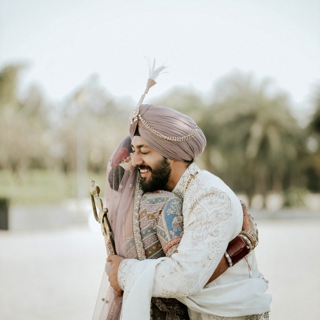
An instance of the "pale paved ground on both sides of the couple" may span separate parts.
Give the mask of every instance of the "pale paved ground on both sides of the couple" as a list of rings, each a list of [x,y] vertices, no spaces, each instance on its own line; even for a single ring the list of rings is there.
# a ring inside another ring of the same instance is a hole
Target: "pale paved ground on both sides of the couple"
[[[92,225],[0,231],[1,320],[91,319],[106,257]],[[320,319],[320,219],[259,219],[258,226],[271,319]]]

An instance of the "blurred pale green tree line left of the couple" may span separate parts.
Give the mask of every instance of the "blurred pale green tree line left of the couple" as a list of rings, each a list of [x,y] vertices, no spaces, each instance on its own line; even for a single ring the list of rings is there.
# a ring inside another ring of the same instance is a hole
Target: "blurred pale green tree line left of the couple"
[[[0,72],[0,169],[17,175],[34,168],[72,172],[78,146],[89,170],[104,170],[127,132],[127,115],[119,106],[123,101],[108,95],[95,76],[61,103],[48,102],[35,85],[21,98],[23,68],[11,65]]]

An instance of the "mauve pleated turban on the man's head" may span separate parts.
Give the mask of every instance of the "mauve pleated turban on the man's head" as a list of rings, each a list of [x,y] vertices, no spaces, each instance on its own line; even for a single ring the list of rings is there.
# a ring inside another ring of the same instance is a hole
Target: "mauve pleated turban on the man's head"
[[[190,134],[196,128],[198,131],[187,141],[170,141],[156,136],[139,120],[129,125],[131,138],[138,127],[140,136],[151,148],[160,155],[176,161],[191,161],[202,154],[206,140],[201,129],[190,117],[170,108],[150,104],[141,105],[139,114],[152,128],[165,136],[182,137]]]

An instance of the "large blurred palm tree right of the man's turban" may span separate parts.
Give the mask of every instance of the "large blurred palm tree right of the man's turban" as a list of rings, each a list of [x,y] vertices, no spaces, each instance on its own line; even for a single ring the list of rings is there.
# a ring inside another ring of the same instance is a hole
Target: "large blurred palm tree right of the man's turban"
[[[232,75],[217,86],[215,101],[203,120],[212,150],[207,154],[211,169],[249,198],[282,191],[290,165],[303,148],[287,95],[271,94],[270,89],[270,82],[255,84],[251,76]],[[224,159],[222,170],[216,166],[215,154]]]

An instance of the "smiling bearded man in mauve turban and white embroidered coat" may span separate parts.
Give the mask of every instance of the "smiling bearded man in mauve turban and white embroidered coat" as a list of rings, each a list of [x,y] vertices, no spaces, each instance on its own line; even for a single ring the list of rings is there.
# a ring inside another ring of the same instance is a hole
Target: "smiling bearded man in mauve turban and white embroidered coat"
[[[139,168],[146,191],[166,189],[183,200],[184,235],[178,252],[157,265],[109,256],[111,286],[129,297],[135,292],[129,275],[141,274],[149,265],[153,285],[141,284],[141,290],[150,290],[154,297],[177,298],[188,306],[190,319],[267,319],[271,298],[264,295],[267,284],[252,251],[256,235],[238,236],[243,223],[239,200],[222,180],[193,162],[204,151],[203,132],[191,118],[169,108],[141,105],[138,111],[129,128],[132,165]],[[241,252],[226,252],[231,240],[239,248],[242,244]],[[239,262],[205,287],[222,258],[227,266]]]

